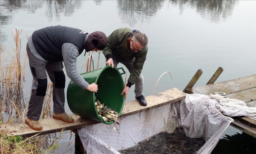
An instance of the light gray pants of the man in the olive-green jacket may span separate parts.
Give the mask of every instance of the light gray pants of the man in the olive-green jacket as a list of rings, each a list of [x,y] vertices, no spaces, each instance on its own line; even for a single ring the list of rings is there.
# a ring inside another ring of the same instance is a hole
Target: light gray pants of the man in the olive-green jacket
[[[131,73],[131,71],[133,69],[133,63],[135,61],[135,58],[133,58],[131,61],[121,62],[115,56],[112,55],[112,59],[114,61],[114,67],[117,68],[117,64],[122,63],[128,69],[128,71]],[[139,97],[139,96],[143,95],[143,84],[144,84],[144,78],[142,76],[142,73],[140,73],[139,78],[137,79],[137,81],[135,83],[135,90],[134,90],[135,97]]]

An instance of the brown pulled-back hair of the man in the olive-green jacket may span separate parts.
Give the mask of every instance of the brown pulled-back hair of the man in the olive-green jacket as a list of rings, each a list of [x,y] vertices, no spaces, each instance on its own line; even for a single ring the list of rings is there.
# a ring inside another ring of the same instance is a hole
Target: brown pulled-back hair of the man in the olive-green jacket
[[[130,48],[130,40],[133,39],[135,42],[139,42],[139,44],[144,48],[148,44],[148,37],[146,34],[139,32],[139,30],[135,31],[126,39],[126,49]]]

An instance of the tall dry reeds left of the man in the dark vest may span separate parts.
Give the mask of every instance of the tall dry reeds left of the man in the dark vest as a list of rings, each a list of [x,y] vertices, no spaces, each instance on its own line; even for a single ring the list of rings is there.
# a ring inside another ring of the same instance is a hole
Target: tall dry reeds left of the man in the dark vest
[[[22,90],[26,55],[24,64],[21,65],[21,32],[13,30],[15,47],[6,52],[6,59],[2,59],[0,51],[0,115],[1,120],[6,120],[7,123],[21,122],[22,111],[26,108]]]

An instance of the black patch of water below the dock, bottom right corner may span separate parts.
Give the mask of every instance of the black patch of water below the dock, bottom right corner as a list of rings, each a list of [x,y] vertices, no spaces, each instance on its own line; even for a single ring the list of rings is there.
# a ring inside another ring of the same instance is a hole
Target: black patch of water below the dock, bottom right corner
[[[218,144],[212,151],[212,154],[226,153],[254,153],[256,139],[250,135],[235,134],[232,136],[225,135],[224,139],[220,139]]]

